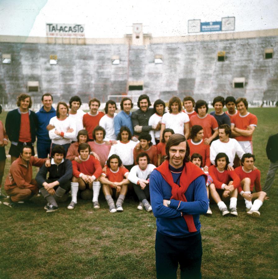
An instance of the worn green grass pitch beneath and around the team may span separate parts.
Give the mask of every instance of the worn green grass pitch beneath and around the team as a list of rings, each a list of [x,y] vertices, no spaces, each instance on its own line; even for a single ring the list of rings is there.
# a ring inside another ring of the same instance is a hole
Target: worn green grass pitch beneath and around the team
[[[263,185],[269,166],[265,146],[277,133],[278,108],[249,111],[258,117],[253,148]],[[3,112],[3,123],[5,117]],[[9,166],[8,158],[4,179]],[[222,217],[216,204],[212,216],[200,216],[203,278],[278,278],[277,186],[276,175],[258,219],[246,215],[243,200],[236,218]],[[52,214],[43,210],[42,197],[14,209],[0,205],[0,278],[156,277],[152,213],[127,199],[122,213],[111,214],[103,194],[98,210],[91,201],[78,201],[75,210],[67,210],[68,203]]]

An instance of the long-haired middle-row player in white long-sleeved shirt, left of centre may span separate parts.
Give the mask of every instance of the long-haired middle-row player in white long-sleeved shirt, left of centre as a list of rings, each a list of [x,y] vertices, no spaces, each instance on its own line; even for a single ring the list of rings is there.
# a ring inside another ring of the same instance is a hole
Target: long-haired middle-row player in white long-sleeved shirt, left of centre
[[[122,126],[118,134],[117,144],[112,145],[108,158],[116,154],[121,158],[125,168],[129,171],[134,166],[133,149],[139,141],[131,140],[131,132],[127,126]]]

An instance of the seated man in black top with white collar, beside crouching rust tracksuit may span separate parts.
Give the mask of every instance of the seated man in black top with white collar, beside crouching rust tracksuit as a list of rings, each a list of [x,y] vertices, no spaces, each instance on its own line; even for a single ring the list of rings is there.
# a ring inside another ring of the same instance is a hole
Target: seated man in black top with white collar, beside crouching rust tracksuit
[[[55,145],[51,150],[51,166],[43,165],[36,175],[40,192],[47,201],[44,206],[47,213],[58,210],[57,199],[71,189],[72,164],[65,155],[65,148]]]

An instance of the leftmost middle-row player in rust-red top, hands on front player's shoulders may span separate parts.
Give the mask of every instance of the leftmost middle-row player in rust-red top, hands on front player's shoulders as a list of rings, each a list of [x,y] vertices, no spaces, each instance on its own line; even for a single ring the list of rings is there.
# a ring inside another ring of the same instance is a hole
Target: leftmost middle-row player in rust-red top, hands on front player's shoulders
[[[81,163],[81,160],[79,159],[79,153],[78,153],[78,147],[80,144],[82,143],[88,143],[92,149],[92,142],[89,141],[89,137],[88,137],[88,132],[86,130],[80,130],[77,134],[77,141],[72,143],[66,153],[66,159],[69,159],[70,161],[75,160],[78,163]],[[90,155],[93,155],[95,158],[97,158],[99,160],[98,155],[91,151]]]

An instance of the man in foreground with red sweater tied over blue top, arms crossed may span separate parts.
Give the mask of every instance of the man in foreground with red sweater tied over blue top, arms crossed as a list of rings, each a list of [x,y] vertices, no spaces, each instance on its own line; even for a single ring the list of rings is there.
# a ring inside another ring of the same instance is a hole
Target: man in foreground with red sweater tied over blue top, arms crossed
[[[150,175],[150,196],[157,218],[157,278],[201,278],[202,239],[199,214],[208,209],[207,176],[190,161],[184,135],[171,135],[167,159]]]

